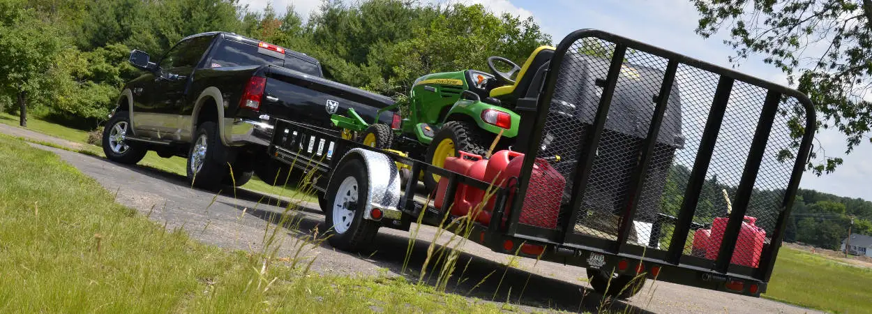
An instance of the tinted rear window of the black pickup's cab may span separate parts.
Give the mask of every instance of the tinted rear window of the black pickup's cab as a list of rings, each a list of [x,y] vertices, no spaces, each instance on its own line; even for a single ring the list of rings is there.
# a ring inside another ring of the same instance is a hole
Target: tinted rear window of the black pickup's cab
[[[233,40],[221,41],[221,45],[212,54],[212,59],[209,60],[207,66],[210,68],[220,68],[251,65],[276,65],[317,77],[321,76],[321,72],[316,64],[293,56],[285,56],[284,59],[275,58],[257,52],[255,45]]]

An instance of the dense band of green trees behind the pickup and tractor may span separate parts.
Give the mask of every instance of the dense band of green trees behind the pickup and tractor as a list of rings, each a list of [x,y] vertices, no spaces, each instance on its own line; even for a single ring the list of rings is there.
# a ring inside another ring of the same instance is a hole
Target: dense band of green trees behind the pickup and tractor
[[[407,92],[421,75],[486,70],[491,55],[521,62],[550,42],[532,19],[496,15],[480,5],[327,0],[302,17],[292,5],[253,11],[237,0],[0,1],[3,9],[16,9],[0,12],[6,51],[40,49],[17,56],[21,62],[14,65],[23,68],[9,78],[26,76],[28,91],[42,93],[31,102],[67,119],[106,117],[124,82],[140,75],[126,63],[132,49],[160,58],[181,38],[203,31],[231,31],[307,53],[322,62],[327,78],[390,96]],[[15,103],[12,90],[0,92],[0,104]]]

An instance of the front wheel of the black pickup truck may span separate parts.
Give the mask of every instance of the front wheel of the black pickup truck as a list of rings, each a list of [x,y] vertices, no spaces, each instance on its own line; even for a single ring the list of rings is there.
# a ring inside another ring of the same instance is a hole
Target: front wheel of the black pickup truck
[[[148,151],[138,143],[130,143],[125,140],[127,133],[133,133],[130,125],[130,114],[127,112],[115,113],[103,128],[103,154],[109,160],[123,164],[133,165],[146,157]]]

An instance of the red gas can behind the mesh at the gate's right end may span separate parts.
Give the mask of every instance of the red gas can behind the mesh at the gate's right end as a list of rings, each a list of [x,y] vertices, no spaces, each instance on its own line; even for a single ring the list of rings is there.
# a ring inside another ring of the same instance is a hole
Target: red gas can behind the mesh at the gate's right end
[[[719,217],[712,222],[712,236],[705,258],[715,259],[718,257],[720,242],[724,240],[726,222],[729,218]],[[730,263],[756,268],[760,265],[760,253],[763,252],[763,243],[766,241],[766,230],[757,227],[754,222],[757,218],[745,216],[742,227],[739,229],[739,239],[736,240],[736,249],[732,253]]]

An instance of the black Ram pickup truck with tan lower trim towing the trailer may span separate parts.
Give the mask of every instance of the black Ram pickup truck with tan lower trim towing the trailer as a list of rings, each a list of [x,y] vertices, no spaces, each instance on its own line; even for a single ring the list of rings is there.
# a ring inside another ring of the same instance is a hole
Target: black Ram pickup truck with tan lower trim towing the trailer
[[[134,50],[130,62],[145,73],[126,84],[106,123],[106,157],[134,164],[150,150],[181,156],[200,188],[241,186],[252,174],[284,183],[279,174],[288,167],[266,155],[272,118],[330,132],[330,114],[350,108],[364,119],[393,119],[378,113],[392,99],[323,78],[317,59],[303,53],[233,33],[183,38],[158,62]]]

